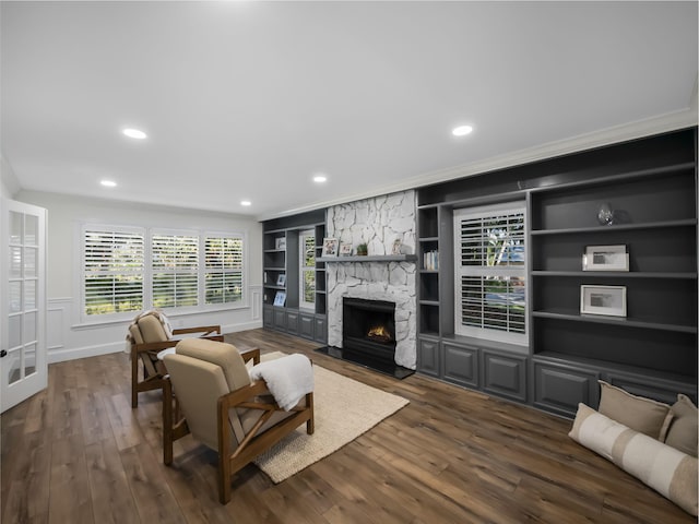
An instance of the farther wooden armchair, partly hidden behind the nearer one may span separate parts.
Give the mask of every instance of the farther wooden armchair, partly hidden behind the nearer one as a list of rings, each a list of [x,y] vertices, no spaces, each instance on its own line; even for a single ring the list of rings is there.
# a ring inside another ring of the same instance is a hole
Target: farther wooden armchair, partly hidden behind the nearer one
[[[140,315],[129,326],[128,341],[131,344],[131,407],[139,406],[139,393],[163,388],[165,366],[157,358],[163,349],[175,347],[181,335],[198,334],[212,341],[223,342],[220,325],[200,325],[171,330],[168,336],[156,311]],[[143,365],[142,380],[139,380],[139,361]]]

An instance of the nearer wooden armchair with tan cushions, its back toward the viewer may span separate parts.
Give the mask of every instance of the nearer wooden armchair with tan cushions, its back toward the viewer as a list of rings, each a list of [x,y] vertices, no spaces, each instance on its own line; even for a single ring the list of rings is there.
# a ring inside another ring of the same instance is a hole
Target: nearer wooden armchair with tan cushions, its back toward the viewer
[[[218,499],[230,500],[230,476],[306,422],[313,432],[313,394],[285,412],[263,380],[250,381],[245,361],[260,361],[260,350],[189,338],[165,356],[168,377],[163,398],[163,462],[173,463],[173,442],[188,433],[218,453]],[[174,419],[174,392],[178,412]]]

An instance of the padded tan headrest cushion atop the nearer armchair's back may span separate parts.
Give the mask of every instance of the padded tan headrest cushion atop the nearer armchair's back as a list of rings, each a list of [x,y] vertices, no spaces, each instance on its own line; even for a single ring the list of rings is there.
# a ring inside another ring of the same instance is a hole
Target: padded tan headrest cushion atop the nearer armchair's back
[[[233,344],[206,338],[185,338],[177,343],[175,353],[220,366],[230,391],[250,384],[248,368]]]

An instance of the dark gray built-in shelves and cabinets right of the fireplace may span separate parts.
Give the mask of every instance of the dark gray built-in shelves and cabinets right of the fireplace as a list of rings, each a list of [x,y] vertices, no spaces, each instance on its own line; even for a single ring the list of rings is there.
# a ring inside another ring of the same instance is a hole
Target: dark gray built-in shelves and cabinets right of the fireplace
[[[596,407],[600,379],[696,401],[696,144],[688,129],[419,190],[418,370],[569,417]],[[528,213],[528,347],[453,330],[453,210],[513,200]],[[628,271],[585,271],[590,246],[625,246]],[[583,285],[624,287],[626,317],[581,314]]]

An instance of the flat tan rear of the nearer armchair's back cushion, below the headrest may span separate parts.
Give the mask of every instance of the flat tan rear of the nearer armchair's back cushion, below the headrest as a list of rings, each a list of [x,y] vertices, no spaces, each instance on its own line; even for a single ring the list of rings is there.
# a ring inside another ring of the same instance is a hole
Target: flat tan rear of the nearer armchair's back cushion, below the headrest
[[[223,370],[215,364],[166,355],[165,366],[192,436],[213,450],[218,449],[218,398],[228,393]]]

